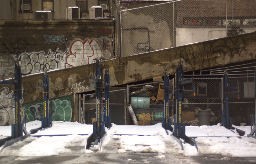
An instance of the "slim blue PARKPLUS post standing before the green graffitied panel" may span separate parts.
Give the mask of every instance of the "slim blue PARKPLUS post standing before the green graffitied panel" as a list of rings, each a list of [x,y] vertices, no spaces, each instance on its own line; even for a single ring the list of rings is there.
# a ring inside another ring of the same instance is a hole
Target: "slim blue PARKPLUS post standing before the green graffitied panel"
[[[52,112],[49,111],[49,77],[48,71],[45,66],[43,78],[43,85],[38,84],[39,87],[42,87],[44,89],[44,113],[43,118],[41,119],[41,128],[47,128],[52,126]]]

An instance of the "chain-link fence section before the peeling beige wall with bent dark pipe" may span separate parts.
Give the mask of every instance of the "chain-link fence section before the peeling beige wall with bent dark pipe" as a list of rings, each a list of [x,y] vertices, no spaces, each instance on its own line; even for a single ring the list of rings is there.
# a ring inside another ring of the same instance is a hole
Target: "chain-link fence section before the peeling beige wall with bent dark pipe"
[[[156,51],[173,46],[173,4],[155,4],[135,9],[122,5],[122,56]]]

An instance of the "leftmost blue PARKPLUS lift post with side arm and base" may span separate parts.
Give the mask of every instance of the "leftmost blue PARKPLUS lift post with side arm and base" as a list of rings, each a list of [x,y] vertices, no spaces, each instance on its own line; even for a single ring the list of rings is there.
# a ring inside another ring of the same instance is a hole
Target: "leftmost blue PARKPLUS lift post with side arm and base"
[[[23,136],[23,132],[25,135],[28,134],[25,128],[26,122],[26,115],[22,120],[21,123],[21,105],[20,102],[22,100],[22,75],[21,75],[21,68],[19,66],[19,61],[15,62],[15,72],[14,72],[14,82],[11,81],[1,81],[0,84],[5,85],[14,85],[14,100],[15,100],[15,124],[12,124],[12,136],[7,137],[0,140],[0,147],[4,145],[7,141],[11,139],[20,139],[20,138],[27,138],[27,136]]]

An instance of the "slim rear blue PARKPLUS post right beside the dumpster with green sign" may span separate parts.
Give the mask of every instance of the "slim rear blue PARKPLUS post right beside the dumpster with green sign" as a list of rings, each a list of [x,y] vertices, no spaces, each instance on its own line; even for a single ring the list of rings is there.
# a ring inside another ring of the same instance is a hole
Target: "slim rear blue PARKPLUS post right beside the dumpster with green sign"
[[[171,118],[169,118],[169,90],[172,89],[172,87],[170,87],[170,79],[166,71],[166,67],[164,66],[164,118],[162,126],[164,129],[172,131],[172,122]]]

